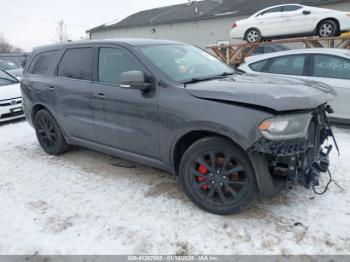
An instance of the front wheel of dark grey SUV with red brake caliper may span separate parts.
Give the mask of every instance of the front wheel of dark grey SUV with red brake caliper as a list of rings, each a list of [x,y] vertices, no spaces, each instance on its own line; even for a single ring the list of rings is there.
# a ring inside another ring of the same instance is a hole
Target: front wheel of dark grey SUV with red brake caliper
[[[249,207],[258,192],[246,153],[219,137],[200,139],[187,149],[180,163],[179,179],[197,206],[218,215]]]

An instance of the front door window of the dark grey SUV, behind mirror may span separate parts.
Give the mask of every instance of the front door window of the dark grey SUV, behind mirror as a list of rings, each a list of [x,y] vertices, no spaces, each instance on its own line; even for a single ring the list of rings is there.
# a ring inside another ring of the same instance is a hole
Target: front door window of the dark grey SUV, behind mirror
[[[99,82],[117,85],[120,74],[128,71],[143,71],[140,63],[129,52],[121,48],[100,48]]]

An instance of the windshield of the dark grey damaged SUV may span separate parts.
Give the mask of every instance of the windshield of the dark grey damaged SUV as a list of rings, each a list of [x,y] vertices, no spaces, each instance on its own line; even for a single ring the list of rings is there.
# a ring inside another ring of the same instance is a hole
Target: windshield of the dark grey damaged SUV
[[[214,56],[190,45],[150,45],[139,48],[160,71],[179,83],[234,73],[231,67]]]

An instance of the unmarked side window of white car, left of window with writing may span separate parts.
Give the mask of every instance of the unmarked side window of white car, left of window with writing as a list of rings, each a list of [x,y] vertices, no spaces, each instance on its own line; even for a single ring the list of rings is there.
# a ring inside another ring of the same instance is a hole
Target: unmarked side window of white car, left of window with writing
[[[267,72],[282,75],[304,75],[305,56],[283,56],[273,59]]]

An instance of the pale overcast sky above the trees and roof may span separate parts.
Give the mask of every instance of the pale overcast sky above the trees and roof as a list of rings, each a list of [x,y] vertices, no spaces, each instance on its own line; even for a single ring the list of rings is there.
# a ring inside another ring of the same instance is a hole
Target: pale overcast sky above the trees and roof
[[[59,20],[67,23],[72,40],[85,31],[135,12],[187,0],[3,0],[0,35],[25,51],[55,41]]]

